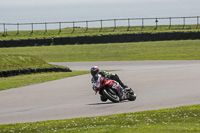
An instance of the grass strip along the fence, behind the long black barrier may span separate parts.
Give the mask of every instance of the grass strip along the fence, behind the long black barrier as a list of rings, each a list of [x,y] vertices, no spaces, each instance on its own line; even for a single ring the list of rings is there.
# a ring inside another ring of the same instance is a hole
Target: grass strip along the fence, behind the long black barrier
[[[129,30],[128,30],[129,29]],[[128,30],[128,31],[127,31]],[[116,29],[114,27],[103,27],[100,31],[100,28],[63,28],[62,32],[59,30],[37,30],[32,33],[32,31],[20,31],[17,34],[17,31],[8,31],[7,36],[3,36],[4,33],[0,32],[0,40],[10,40],[10,39],[35,39],[35,38],[52,38],[52,37],[74,37],[74,36],[94,36],[94,35],[108,35],[108,34],[124,34],[124,33],[156,33],[156,32],[187,32],[187,31],[200,31],[197,25],[172,25],[170,28],[167,25],[159,25],[157,29],[155,26],[118,26]]]

